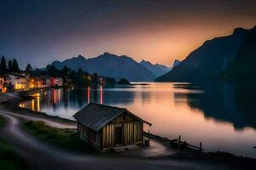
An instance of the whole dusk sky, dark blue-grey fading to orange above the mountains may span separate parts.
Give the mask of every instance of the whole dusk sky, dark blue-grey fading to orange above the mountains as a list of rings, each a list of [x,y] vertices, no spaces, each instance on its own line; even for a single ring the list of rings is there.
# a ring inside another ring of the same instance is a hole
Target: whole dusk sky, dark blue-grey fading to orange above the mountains
[[[104,52],[171,65],[256,26],[255,0],[0,0],[0,55],[42,68]]]

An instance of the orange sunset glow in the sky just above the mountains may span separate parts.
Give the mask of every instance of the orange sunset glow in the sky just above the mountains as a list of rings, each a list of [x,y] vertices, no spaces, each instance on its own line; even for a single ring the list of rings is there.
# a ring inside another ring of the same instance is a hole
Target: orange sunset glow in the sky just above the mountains
[[[255,18],[256,19],[256,18]],[[183,23],[180,26],[154,26],[142,28],[141,30],[129,31],[129,36],[111,35],[113,37],[106,39],[108,41],[97,42],[97,49],[80,48],[88,58],[96,57],[104,52],[117,55],[127,55],[140,62],[142,59],[151,63],[163,65],[172,65],[175,59],[183,60],[196,48],[199,48],[203,42],[211,40],[214,37],[224,37],[232,34],[236,27],[252,28],[255,23],[251,20],[244,20],[241,23],[230,23],[226,25],[190,25]],[[200,23],[198,23],[200,24]],[[111,46],[109,46],[111,44]],[[62,54],[62,56],[73,56],[74,54]]]

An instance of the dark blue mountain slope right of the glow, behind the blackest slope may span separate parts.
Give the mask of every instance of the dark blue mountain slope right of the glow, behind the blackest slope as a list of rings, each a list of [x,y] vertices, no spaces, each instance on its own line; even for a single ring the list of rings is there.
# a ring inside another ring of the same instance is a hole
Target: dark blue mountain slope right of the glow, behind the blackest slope
[[[236,28],[230,36],[204,42],[172,71],[156,78],[156,82],[211,82],[218,80],[241,48],[248,30]]]

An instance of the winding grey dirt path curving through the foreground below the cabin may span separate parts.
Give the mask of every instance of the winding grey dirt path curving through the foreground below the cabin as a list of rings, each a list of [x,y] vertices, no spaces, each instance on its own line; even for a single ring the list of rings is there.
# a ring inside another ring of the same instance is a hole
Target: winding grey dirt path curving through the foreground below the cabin
[[[7,121],[0,136],[25,157],[32,170],[50,169],[227,169],[206,162],[111,158],[106,156],[79,155],[45,144],[20,128],[20,116],[0,111]],[[27,118],[23,116],[22,118]],[[31,120],[31,118],[28,118]],[[1,169],[1,168],[0,168]]]

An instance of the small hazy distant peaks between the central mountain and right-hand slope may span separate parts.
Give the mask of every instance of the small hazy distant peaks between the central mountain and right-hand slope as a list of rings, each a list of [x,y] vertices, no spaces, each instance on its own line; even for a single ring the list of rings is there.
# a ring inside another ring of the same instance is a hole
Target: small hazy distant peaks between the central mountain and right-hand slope
[[[145,60],[142,60],[140,64],[145,66],[148,69],[148,71],[151,71],[154,74],[154,77],[160,77],[169,71],[168,67],[166,67],[165,65],[159,65],[159,64],[153,65],[149,61],[145,61]]]

